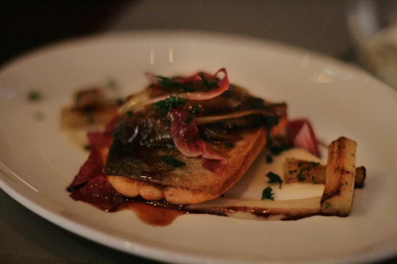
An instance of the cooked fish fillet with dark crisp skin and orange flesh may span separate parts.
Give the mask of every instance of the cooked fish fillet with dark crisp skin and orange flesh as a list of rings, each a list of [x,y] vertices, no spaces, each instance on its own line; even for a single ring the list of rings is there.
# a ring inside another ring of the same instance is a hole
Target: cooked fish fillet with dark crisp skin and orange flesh
[[[105,173],[113,187],[126,196],[131,196],[126,190],[136,189],[137,186],[143,189],[139,182],[145,182],[161,190],[170,203],[200,203],[219,197],[240,179],[265,147],[266,135],[266,129],[261,127],[244,131],[241,140],[233,142],[234,147],[211,145],[228,160],[220,174],[203,168],[201,157],[186,157],[175,148],[134,147],[126,150],[114,142],[106,160]],[[170,168],[161,162],[163,155],[174,156],[186,165]]]

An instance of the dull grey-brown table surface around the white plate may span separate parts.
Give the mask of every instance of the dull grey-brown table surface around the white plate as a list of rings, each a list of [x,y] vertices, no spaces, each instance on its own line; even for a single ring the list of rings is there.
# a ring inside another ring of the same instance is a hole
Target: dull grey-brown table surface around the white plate
[[[348,55],[352,46],[344,1],[149,0],[120,3],[117,7],[111,5],[114,12],[105,12],[107,16],[96,27],[94,24],[89,30],[78,33],[142,29],[220,32],[284,42],[330,56]],[[220,14],[217,10],[224,12]],[[200,14],[206,14],[205,18]],[[43,28],[40,30],[43,33]],[[46,38],[46,41],[68,36],[75,35],[66,32],[53,39]],[[31,46],[21,46],[20,50],[9,49],[3,58],[16,56],[38,44],[40,41],[32,41]],[[7,52],[7,49],[2,50]],[[0,263],[160,263],[98,245],[65,231],[26,209],[2,190],[0,212]],[[382,264],[395,262],[397,257]]]

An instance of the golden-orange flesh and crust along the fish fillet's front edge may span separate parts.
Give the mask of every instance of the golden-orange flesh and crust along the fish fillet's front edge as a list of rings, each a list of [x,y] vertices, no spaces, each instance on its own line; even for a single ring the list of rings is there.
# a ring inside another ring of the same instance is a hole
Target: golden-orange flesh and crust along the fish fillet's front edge
[[[211,200],[226,192],[241,178],[263,150],[266,144],[266,131],[264,128],[246,131],[241,134],[241,138],[240,141],[234,143],[233,148],[224,145],[212,146],[228,160],[225,169],[220,174],[203,168],[201,157],[185,157],[177,150],[173,150],[175,153],[172,155],[186,162],[185,166],[159,177],[146,179],[146,181],[139,179],[139,175],[108,175],[107,179],[119,193],[126,196],[141,195],[147,200],[154,200],[151,199],[152,196],[145,195],[144,190],[147,185],[150,185],[162,192],[162,195],[157,197],[164,196],[171,203],[193,204]],[[152,154],[156,155],[157,151],[153,150],[153,152]]]

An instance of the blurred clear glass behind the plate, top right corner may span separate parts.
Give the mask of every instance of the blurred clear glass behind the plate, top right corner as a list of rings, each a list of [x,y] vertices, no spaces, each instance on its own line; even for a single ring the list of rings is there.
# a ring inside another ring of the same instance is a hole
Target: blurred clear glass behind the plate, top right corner
[[[397,1],[350,1],[347,22],[358,61],[397,90]]]

